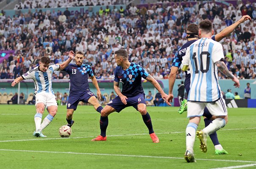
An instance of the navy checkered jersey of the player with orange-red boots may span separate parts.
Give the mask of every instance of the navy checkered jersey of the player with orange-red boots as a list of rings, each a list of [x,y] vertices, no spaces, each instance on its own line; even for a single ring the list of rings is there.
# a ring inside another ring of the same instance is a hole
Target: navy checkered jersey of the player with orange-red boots
[[[142,66],[131,63],[128,69],[123,70],[122,66],[117,66],[114,71],[114,81],[122,83],[122,94],[128,97],[144,93],[142,88],[142,77],[149,75]]]

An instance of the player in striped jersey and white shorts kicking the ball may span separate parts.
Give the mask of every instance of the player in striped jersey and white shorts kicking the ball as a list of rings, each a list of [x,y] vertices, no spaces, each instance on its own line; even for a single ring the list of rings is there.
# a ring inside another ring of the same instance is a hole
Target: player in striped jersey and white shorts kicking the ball
[[[42,134],[42,130],[50,124],[58,109],[58,105],[52,89],[53,71],[63,70],[72,61],[73,57],[74,52],[70,51],[69,58],[65,62],[60,65],[55,65],[51,64],[49,57],[43,56],[39,61],[39,66],[36,66],[22,76],[19,76],[11,83],[11,86],[15,86],[17,83],[25,79],[33,79],[35,83],[36,114],[34,120],[36,131],[34,131],[33,136],[46,137]],[[45,107],[49,114],[42,122],[42,114],[45,111]]]

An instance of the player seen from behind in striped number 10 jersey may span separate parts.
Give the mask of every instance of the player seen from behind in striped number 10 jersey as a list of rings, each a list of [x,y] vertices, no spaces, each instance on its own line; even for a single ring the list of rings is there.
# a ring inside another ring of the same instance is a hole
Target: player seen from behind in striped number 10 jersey
[[[189,46],[182,60],[183,70],[189,65],[191,74],[187,103],[187,117],[189,117],[189,124],[186,127],[185,160],[187,162],[195,162],[193,151],[195,134],[200,139],[200,149],[206,153],[206,137],[223,128],[228,122],[225,100],[217,80],[217,68],[235,82],[235,87],[239,87],[239,80],[228,71],[224,63],[222,45],[211,39],[213,33],[211,21],[208,19],[201,21],[199,23],[201,39]],[[216,119],[203,130],[196,132],[205,107]]]

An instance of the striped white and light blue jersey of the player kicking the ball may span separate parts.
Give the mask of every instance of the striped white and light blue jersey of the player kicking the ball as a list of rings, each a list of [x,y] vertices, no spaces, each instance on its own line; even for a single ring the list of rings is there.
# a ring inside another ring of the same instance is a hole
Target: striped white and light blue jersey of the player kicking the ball
[[[39,65],[40,66],[40,65]],[[21,77],[23,79],[33,79],[35,84],[35,94],[40,92],[53,93],[52,75],[53,71],[57,71],[60,66],[50,64],[46,72],[40,71],[39,66],[27,71]]]

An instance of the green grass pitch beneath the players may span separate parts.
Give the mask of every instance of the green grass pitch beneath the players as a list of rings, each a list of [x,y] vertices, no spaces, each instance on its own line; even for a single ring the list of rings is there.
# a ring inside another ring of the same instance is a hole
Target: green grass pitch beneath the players
[[[256,168],[256,109],[228,109],[228,124],[217,132],[228,155],[214,155],[208,137],[208,152],[195,141],[197,163],[184,160],[186,112],[177,107],[147,107],[160,142],[153,143],[139,112],[133,107],[109,115],[106,142],[91,142],[100,134],[99,119],[92,106],[78,106],[70,138],[61,138],[66,125],[66,106],[59,106],[47,138],[32,136],[35,106],[0,106],[0,168],[3,169],[215,169],[242,166]],[[43,114],[43,118],[47,112]],[[198,129],[204,126],[203,120]]]

